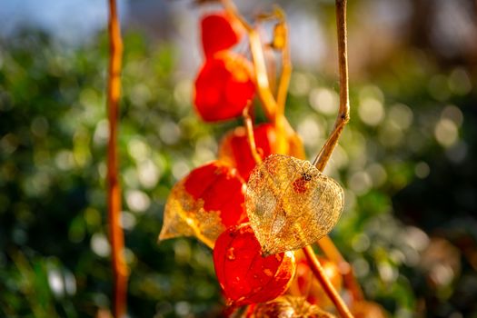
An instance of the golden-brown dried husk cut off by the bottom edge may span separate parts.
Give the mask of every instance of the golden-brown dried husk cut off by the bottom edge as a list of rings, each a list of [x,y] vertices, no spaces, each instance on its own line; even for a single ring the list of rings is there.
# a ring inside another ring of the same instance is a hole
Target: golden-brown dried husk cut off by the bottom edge
[[[249,318],[334,318],[317,305],[307,303],[303,297],[281,296],[268,303],[257,304]]]

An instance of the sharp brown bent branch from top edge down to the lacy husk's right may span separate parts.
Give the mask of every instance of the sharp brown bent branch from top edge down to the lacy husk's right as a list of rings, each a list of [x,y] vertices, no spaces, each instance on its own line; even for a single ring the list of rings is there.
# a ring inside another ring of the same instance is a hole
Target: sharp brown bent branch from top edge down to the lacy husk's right
[[[323,145],[322,150],[316,156],[313,164],[318,170],[323,171],[324,167],[330,160],[333,149],[340,135],[343,132],[344,126],[350,120],[350,102],[349,102],[349,88],[348,88],[348,49],[346,45],[346,0],[336,0],[336,27],[338,30],[338,65],[340,73],[340,109],[338,117],[334,122],[333,132],[328,138],[328,141]]]

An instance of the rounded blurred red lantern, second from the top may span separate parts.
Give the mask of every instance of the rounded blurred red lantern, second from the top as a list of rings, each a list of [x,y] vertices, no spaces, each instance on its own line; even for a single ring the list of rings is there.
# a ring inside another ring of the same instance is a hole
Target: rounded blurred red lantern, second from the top
[[[253,67],[242,55],[224,51],[205,61],[195,79],[195,109],[205,122],[240,116],[253,98]]]

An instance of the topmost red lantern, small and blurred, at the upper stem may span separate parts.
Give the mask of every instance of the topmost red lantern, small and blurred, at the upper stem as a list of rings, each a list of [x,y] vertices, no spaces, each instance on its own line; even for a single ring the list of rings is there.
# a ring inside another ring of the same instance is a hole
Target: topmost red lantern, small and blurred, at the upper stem
[[[202,46],[206,58],[236,45],[243,35],[243,27],[224,12],[205,15],[201,20]]]

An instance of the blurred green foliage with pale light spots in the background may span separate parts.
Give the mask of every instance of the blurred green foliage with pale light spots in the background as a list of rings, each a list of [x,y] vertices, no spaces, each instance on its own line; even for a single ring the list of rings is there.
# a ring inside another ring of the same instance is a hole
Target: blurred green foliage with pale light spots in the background
[[[0,47],[0,316],[94,316],[112,291],[105,36],[65,48],[30,30]],[[240,122],[199,121],[173,46],[130,33],[124,49],[130,316],[217,315],[210,250],[156,240],[172,185],[214,159],[220,136]],[[477,316],[476,84],[465,68],[436,69],[411,51],[389,65],[352,82],[352,121],[325,170],[345,188],[333,240],[367,297],[393,316]],[[337,88],[334,78],[293,74],[287,115],[309,158],[333,126]]]

